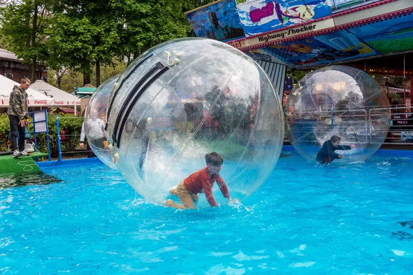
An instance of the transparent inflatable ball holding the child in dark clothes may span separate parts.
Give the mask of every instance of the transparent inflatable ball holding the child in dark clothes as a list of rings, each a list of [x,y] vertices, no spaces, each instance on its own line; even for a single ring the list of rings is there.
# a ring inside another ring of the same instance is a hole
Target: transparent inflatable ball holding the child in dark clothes
[[[390,105],[380,85],[346,66],[306,74],[290,92],[284,111],[288,139],[310,162],[316,162],[332,135],[341,137],[341,145],[355,146],[335,151],[342,155],[335,163],[363,161],[380,148],[390,127]]]

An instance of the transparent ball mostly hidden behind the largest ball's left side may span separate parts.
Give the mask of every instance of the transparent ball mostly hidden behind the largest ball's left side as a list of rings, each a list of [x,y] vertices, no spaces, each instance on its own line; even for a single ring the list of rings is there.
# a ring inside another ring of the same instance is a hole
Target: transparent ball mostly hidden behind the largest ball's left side
[[[108,137],[105,131],[106,111],[109,105],[109,97],[116,85],[118,76],[106,80],[94,91],[90,97],[85,111],[85,134],[90,148],[104,164],[110,168],[117,167],[113,164],[108,148]]]

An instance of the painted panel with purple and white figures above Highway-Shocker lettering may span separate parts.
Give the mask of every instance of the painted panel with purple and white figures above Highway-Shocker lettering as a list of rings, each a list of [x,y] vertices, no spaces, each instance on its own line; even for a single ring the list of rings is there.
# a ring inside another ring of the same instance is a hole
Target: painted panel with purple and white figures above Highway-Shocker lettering
[[[237,5],[237,11],[247,36],[332,14],[326,0],[253,0]]]

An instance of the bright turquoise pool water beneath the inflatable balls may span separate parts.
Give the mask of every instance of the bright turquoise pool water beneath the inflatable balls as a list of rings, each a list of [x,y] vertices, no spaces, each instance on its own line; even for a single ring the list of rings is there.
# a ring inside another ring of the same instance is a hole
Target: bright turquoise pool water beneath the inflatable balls
[[[413,273],[412,157],[283,151],[243,206],[194,211],[135,199],[103,164],[43,170],[63,182],[0,190],[0,274]]]

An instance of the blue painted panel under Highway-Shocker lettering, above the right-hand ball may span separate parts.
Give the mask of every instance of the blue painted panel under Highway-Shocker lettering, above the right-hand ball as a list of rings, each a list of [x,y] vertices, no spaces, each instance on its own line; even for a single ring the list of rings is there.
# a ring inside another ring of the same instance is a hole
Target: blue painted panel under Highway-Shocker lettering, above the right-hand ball
[[[273,45],[262,50],[296,69],[329,65],[377,54],[374,49],[348,31]]]

